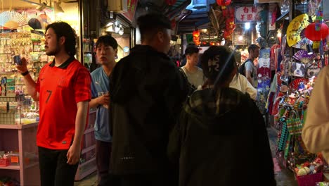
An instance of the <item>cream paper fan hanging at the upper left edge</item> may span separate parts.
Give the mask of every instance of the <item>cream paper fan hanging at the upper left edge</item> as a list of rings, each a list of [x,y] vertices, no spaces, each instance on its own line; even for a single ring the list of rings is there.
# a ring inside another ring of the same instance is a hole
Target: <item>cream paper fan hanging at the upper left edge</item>
[[[27,20],[22,14],[15,11],[4,11],[0,13],[0,25],[14,29],[16,27],[26,25]]]

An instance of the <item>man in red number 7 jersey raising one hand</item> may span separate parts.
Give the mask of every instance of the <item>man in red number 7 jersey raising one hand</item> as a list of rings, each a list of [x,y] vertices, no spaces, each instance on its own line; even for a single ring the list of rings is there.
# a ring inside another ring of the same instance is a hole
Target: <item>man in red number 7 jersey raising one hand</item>
[[[45,49],[54,56],[34,82],[27,61],[16,68],[23,76],[27,92],[39,101],[37,132],[41,185],[74,185],[82,136],[91,99],[89,71],[75,59],[75,31],[64,22],[46,27]]]

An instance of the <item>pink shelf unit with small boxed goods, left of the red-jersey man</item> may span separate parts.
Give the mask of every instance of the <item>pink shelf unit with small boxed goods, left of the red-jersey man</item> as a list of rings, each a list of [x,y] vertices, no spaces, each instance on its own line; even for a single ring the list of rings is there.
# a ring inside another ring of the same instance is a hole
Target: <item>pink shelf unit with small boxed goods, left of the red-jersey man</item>
[[[37,126],[37,122],[0,125],[0,150],[14,151],[9,157],[11,163],[8,166],[0,166],[1,177],[14,178],[20,185],[40,185]]]

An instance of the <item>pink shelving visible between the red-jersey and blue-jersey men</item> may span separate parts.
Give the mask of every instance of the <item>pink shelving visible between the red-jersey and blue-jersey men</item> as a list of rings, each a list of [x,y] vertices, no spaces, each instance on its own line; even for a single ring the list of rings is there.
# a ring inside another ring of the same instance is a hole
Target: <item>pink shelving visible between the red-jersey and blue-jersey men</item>
[[[93,125],[96,119],[96,111],[89,112],[88,125],[84,131],[84,148],[82,149],[82,155],[80,159],[77,173],[75,174],[75,180],[79,181],[85,178],[87,175],[96,171],[96,142],[93,134]]]

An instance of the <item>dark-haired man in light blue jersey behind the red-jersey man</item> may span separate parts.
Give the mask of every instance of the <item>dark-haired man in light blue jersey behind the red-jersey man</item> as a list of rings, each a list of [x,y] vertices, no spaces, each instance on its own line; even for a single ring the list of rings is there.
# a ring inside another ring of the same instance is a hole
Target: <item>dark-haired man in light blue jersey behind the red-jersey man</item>
[[[96,139],[96,166],[98,183],[102,182],[110,171],[110,156],[112,137],[110,135],[108,105],[110,104],[110,81],[109,76],[115,67],[117,56],[117,41],[110,35],[103,35],[96,42],[96,58],[101,64],[91,73],[90,108],[96,108],[95,139]]]

